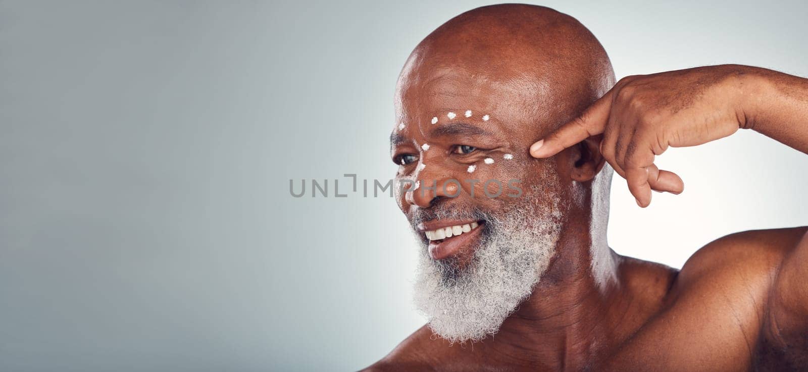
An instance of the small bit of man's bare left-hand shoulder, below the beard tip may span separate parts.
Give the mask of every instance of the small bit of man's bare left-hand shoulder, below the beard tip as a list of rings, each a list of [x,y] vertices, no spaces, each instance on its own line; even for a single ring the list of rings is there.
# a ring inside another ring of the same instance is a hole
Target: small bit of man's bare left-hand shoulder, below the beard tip
[[[433,345],[429,345],[430,342]],[[434,344],[431,330],[424,325],[404,339],[379,362],[373,363],[372,366],[361,372],[431,370],[430,365],[434,359],[434,346],[436,346]]]

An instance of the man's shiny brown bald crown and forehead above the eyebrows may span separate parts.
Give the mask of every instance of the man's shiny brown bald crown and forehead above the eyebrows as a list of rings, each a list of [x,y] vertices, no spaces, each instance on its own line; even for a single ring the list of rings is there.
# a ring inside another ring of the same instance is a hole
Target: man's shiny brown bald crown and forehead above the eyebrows
[[[467,106],[474,100],[490,111],[524,113],[535,136],[613,84],[604,48],[576,19],[543,6],[503,4],[469,10],[427,36],[406,61],[396,103],[406,109],[429,97],[448,107],[448,98],[464,96]]]

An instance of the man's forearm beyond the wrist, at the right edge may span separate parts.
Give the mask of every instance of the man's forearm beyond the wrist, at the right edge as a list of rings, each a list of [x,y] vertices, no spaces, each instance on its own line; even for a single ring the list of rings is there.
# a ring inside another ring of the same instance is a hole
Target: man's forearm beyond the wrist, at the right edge
[[[742,127],[808,153],[808,79],[761,68],[743,75]]]

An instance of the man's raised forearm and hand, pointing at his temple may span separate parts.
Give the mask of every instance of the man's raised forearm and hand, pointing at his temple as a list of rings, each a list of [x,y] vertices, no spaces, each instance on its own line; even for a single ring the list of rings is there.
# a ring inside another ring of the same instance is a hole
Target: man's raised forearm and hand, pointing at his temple
[[[651,189],[675,194],[678,175],[654,157],[748,128],[808,153],[808,79],[743,65],[718,65],[621,79],[578,118],[532,145],[550,157],[590,136],[628,182],[641,207]]]

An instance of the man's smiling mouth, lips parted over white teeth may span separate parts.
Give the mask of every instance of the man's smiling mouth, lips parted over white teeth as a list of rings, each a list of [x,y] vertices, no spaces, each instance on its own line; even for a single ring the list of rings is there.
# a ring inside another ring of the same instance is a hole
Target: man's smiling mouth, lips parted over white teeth
[[[429,253],[435,260],[468,251],[480,235],[482,221],[431,221],[420,230],[429,240]]]

